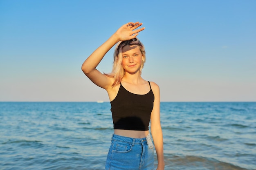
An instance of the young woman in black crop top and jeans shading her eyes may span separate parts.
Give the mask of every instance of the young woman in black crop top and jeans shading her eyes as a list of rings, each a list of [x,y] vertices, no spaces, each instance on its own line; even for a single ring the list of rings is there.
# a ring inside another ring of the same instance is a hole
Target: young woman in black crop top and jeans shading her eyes
[[[83,63],[82,71],[97,86],[106,89],[111,103],[114,134],[105,170],[164,170],[163,136],[160,125],[160,93],[154,82],[141,77],[146,60],[144,45],[136,38],[142,23],[128,22]],[[102,74],[96,67],[115,45],[113,70]]]

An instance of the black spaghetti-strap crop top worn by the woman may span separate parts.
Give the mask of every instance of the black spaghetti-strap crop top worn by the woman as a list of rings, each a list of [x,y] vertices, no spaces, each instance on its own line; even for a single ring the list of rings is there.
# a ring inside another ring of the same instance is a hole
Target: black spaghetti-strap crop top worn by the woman
[[[154,99],[151,86],[147,94],[137,95],[120,83],[117,96],[110,102],[114,129],[148,130]]]

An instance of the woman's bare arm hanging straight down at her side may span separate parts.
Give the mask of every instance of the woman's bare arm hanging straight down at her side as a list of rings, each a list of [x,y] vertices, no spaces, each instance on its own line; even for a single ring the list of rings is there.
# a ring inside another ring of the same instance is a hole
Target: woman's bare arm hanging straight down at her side
[[[160,124],[160,91],[159,86],[155,83],[152,84],[152,91],[155,95],[154,107],[151,113],[151,134],[155,144],[155,150],[157,152],[157,170],[164,170],[164,146],[163,146],[163,134]]]

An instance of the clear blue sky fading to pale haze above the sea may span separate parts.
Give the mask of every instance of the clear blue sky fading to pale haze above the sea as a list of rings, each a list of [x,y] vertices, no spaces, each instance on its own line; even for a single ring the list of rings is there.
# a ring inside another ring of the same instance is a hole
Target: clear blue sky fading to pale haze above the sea
[[[256,101],[255,0],[0,0],[0,101],[108,101],[81,64],[136,21],[163,102]]]

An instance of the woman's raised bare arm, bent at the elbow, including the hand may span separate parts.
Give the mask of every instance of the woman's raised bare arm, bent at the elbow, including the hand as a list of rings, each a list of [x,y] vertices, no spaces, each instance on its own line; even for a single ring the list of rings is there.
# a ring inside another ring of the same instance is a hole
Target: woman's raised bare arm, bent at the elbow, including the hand
[[[112,84],[111,78],[99,72],[96,67],[101,62],[104,55],[106,55],[117,42],[135,38],[138,32],[144,30],[145,28],[137,29],[141,25],[142,23],[139,22],[128,22],[124,24],[83,62],[82,71],[94,84],[105,89],[110,87]]]

